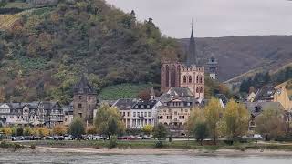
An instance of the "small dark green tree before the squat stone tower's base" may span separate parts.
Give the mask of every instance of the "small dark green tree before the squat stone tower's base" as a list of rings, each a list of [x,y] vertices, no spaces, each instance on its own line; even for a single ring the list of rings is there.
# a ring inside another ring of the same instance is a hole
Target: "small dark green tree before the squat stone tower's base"
[[[85,127],[81,118],[74,118],[69,125],[69,132],[74,138],[80,138],[85,134]]]

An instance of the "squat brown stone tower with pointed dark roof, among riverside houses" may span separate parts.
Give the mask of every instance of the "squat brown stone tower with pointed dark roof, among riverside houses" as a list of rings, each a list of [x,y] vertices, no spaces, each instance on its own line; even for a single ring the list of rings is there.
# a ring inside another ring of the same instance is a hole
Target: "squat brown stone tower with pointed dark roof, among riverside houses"
[[[89,80],[82,75],[80,81],[75,85],[73,97],[73,116],[83,118],[85,121],[93,122],[93,110],[97,104],[97,94],[90,85]]]

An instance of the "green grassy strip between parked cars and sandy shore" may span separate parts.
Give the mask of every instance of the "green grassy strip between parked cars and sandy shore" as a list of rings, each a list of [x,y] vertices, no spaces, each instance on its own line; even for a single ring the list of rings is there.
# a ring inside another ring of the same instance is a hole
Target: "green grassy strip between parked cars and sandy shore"
[[[118,141],[117,149],[158,149],[156,148],[157,141],[155,140],[135,140],[135,141]],[[14,143],[16,144],[16,143]],[[104,149],[109,147],[109,141],[95,141],[95,140],[81,140],[81,141],[55,141],[55,140],[39,140],[26,141],[18,143],[26,148],[42,147],[42,148],[64,148],[64,149]],[[245,151],[247,149],[253,150],[285,150],[292,152],[292,143],[279,142],[235,142],[233,145],[228,145],[223,141],[217,145],[199,145],[197,142],[190,140],[184,141],[164,141],[160,149],[204,149],[209,151],[219,149],[235,149]]]

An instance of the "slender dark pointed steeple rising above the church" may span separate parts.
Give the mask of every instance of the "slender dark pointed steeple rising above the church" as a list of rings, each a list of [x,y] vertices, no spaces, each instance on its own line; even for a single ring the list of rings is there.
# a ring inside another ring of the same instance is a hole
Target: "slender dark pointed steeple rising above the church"
[[[195,53],[195,42],[194,42],[194,36],[193,36],[193,20],[192,20],[192,33],[190,38],[190,45],[189,45],[189,51],[186,57],[186,65],[192,66],[197,64],[197,58]]]

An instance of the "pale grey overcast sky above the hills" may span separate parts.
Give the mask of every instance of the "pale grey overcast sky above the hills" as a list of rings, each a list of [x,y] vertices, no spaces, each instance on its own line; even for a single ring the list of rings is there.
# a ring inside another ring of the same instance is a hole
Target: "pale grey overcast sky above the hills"
[[[287,0],[106,0],[153,18],[162,34],[189,37],[192,18],[197,37],[292,35],[292,1]]]

